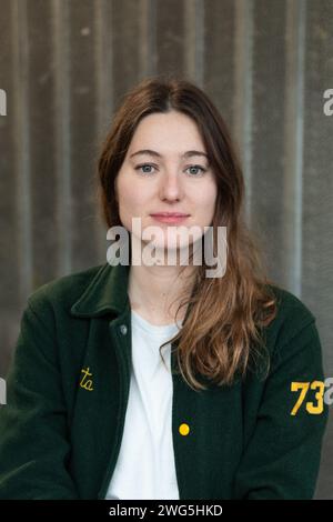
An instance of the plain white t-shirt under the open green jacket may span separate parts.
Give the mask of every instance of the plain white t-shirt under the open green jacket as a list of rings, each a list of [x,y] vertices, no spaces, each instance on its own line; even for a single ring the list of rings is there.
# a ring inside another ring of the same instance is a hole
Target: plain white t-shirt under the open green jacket
[[[158,327],[132,310],[132,371],[124,431],[105,499],[179,499],[172,441],[171,344],[181,328]]]

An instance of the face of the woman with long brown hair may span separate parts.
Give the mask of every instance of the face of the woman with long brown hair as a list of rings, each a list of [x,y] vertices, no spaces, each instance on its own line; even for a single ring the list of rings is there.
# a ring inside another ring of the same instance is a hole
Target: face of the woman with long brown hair
[[[142,150],[153,152],[138,153]],[[171,111],[141,120],[115,180],[121,222],[135,239],[153,240],[157,249],[182,249],[212,224],[216,182],[208,158],[198,151],[206,154],[196,124],[188,116]],[[152,215],[159,212],[180,212],[185,218],[161,221]],[[141,233],[133,231],[132,218],[141,219]],[[191,237],[193,225],[200,232]],[[142,238],[148,227],[157,227],[155,234]]]

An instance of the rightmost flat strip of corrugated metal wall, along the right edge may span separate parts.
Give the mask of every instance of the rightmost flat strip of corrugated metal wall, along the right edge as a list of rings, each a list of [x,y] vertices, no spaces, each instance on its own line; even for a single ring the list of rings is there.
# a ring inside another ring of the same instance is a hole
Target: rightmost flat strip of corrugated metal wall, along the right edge
[[[333,2],[307,0],[305,13],[302,203],[302,298],[314,311],[333,377],[333,117],[323,112],[323,92],[333,86]],[[319,483],[321,498],[333,498],[331,419]]]

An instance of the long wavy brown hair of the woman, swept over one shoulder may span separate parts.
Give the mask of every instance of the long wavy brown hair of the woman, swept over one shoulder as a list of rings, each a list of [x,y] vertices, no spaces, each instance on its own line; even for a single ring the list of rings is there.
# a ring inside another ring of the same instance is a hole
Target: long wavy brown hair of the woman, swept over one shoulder
[[[122,99],[98,159],[98,184],[102,217],[108,225],[122,225],[115,178],[133,133],[142,118],[175,110],[192,118],[205,144],[216,178],[218,197],[211,223],[226,227],[228,257],[222,278],[206,278],[206,267],[195,268],[195,280],[182,293],[185,320],[171,340],[180,372],[194,390],[202,382],[231,385],[253,362],[270,367],[264,327],[276,315],[276,295],[266,277],[266,261],[259,240],[244,220],[244,179],[224,120],[210,98],[194,83],[171,74],[149,77]],[[189,297],[190,295],[190,297]],[[164,343],[167,344],[167,343]],[[163,345],[164,345],[163,344]],[[163,347],[162,345],[162,347]],[[161,348],[162,348],[161,347]],[[162,358],[163,359],[163,358]]]

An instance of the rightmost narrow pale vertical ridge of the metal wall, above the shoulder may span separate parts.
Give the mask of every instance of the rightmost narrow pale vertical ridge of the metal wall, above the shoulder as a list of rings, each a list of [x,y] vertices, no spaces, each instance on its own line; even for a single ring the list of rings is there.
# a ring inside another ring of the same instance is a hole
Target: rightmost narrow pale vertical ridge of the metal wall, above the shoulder
[[[285,281],[302,292],[305,2],[286,3],[283,252]]]

